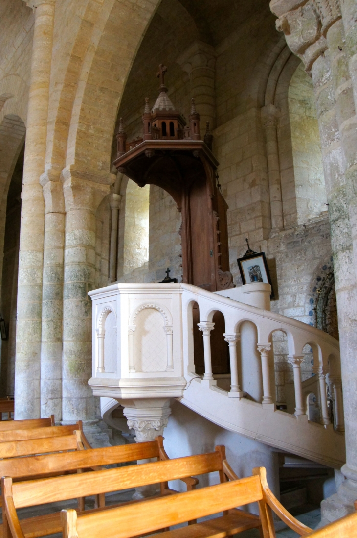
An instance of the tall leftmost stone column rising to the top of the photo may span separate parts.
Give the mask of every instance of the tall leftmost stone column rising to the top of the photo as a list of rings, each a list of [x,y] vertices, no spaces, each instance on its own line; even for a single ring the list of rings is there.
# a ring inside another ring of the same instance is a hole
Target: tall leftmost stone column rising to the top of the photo
[[[35,11],[26,145],[21,193],[21,233],[16,330],[15,418],[40,417],[40,354],[49,80],[55,0],[28,2]]]

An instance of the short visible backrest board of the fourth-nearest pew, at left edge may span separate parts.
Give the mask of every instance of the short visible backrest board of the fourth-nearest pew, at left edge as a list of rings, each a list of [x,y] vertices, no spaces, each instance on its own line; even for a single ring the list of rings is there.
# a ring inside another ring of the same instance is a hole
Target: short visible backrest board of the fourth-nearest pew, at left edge
[[[76,434],[62,435],[60,437],[45,437],[43,439],[26,439],[25,441],[10,441],[8,443],[0,443],[0,458],[45,454],[45,452],[75,450],[76,448]]]

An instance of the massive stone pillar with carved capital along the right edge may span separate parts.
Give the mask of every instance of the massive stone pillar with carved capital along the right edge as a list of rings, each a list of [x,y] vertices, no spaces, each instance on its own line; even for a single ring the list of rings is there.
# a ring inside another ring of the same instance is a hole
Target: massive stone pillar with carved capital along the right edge
[[[355,13],[355,2],[309,0],[301,4],[299,0],[272,0],[270,5],[273,13],[279,17],[277,29],[285,33],[289,48],[302,59],[312,75],[326,194],[330,204],[346,424],[347,463],[341,470],[347,480],[339,487],[338,494],[322,502],[322,522],[327,523],[353,512],[353,501],[357,498],[357,419],[354,412],[357,407],[357,276],[354,258],[357,238],[357,204],[354,197],[356,119],[345,55],[346,48],[347,56],[353,58],[355,41],[348,39],[347,45],[340,22],[341,6],[345,28],[348,27],[353,33],[355,17],[351,13]],[[351,73],[352,63],[349,63]],[[321,385],[322,382],[325,386],[325,381],[320,380]]]

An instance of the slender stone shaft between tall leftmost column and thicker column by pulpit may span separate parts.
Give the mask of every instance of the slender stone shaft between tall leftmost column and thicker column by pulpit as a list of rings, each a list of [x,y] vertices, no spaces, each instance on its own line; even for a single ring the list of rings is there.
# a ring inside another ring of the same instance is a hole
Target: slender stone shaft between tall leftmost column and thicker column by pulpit
[[[45,198],[43,245],[41,417],[62,419],[62,316],[64,258],[64,198],[60,173],[41,176]]]

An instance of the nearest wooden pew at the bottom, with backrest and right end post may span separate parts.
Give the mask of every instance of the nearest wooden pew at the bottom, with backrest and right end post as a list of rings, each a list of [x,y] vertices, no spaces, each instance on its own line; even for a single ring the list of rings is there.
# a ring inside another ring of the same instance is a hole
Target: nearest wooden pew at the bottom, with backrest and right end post
[[[129,538],[155,532],[163,526],[177,525],[187,519],[203,518],[210,514],[228,511],[228,514],[221,518],[160,534],[160,538],[223,537],[227,536],[224,520],[241,513],[235,507],[258,501],[263,537],[275,538],[271,507],[266,503],[264,495],[265,468],[256,468],[254,472],[255,474],[249,478],[179,493],[170,498],[148,500],[142,503],[140,512],[137,506],[122,506],[91,514],[77,514],[72,509],[64,510],[61,514],[63,536],[64,538],[98,538],[98,536]],[[277,499],[275,501],[279,508],[279,501]],[[294,518],[290,516],[290,520],[293,522]],[[311,538],[353,538],[356,536],[356,525],[357,514],[353,513],[316,532],[312,532],[308,527],[302,530],[304,530],[303,535],[311,536]],[[235,533],[242,530],[244,529],[237,527]]]

